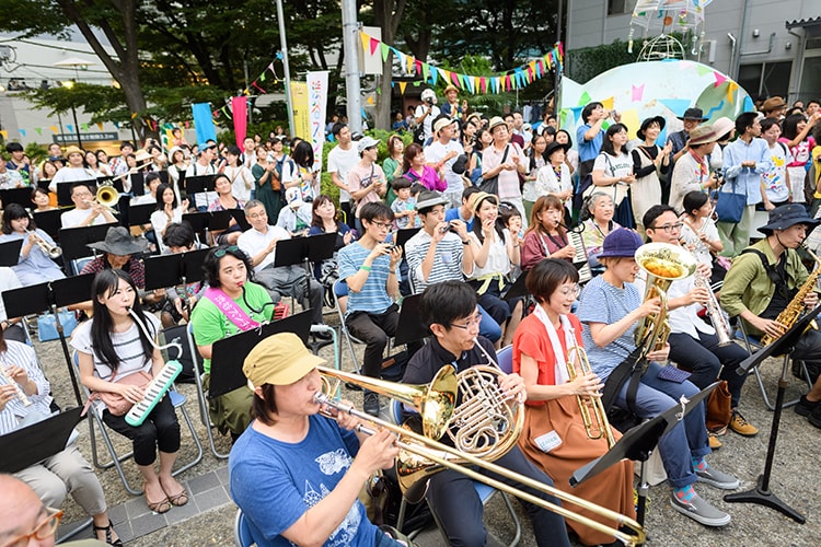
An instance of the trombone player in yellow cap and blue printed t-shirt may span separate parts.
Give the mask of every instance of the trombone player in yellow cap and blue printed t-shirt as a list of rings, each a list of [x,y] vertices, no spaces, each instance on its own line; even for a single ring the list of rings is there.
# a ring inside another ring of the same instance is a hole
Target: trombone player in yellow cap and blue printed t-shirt
[[[257,545],[407,545],[368,521],[357,498],[393,464],[395,438],[355,433],[359,420],[345,412],[320,416],[324,363],[292,333],[265,338],[245,358],[254,421],[231,450],[231,498]]]

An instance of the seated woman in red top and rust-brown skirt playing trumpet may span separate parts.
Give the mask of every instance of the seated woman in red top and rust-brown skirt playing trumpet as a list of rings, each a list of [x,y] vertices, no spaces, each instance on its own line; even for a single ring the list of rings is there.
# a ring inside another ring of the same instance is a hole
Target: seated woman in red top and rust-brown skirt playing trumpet
[[[600,397],[603,384],[594,373],[579,368],[580,352],[575,351],[582,344],[581,323],[570,313],[580,292],[579,272],[565,260],[547,258],[528,272],[527,286],[537,305],[513,337],[513,371],[524,379],[528,394],[519,447],[557,488],[634,519],[633,463],[628,459],[576,488],[568,481],[574,472],[610,450],[606,417],[602,412],[598,421],[594,418],[586,424],[580,407],[587,405],[595,416],[589,401]],[[568,366],[577,370],[575,377]],[[615,430],[610,434],[618,437]],[[599,520],[586,510],[579,512]],[[585,545],[614,542],[613,536],[575,521],[567,524]]]

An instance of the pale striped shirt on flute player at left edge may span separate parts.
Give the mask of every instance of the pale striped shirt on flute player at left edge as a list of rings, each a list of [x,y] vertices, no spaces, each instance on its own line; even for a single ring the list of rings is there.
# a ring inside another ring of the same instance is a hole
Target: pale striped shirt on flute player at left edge
[[[28,380],[37,384],[37,395],[28,395],[28,400],[32,401],[30,407],[25,407],[19,398],[13,398],[5,404],[5,408],[0,411],[0,434],[2,435],[18,429],[20,420],[31,411],[45,416],[51,414],[49,408],[51,404],[49,391],[51,387],[37,365],[37,356],[35,356],[34,350],[25,344],[14,340],[7,340],[5,345],[5,351],[0,353],[0,366],[4,371],[7,366],[14,364],[25,370]],[[5,379],[0,376],[0,385],[7,383]]]

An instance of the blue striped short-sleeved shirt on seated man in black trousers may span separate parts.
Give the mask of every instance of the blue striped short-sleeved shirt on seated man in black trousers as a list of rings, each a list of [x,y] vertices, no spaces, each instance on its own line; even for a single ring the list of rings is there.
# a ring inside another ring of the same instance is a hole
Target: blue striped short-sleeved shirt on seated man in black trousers
[[[365,248],[359,242],[339,249],[339,279],[348,279],[356,275],[359,267],[371,254],[370,249]],[[381,255],[373,260],[371,270],[368,272],[368,279],[359,292],[350,291],[348,293],[348,310],[345,313],[347,317],[352,312],[368,312],[372,314],[384,313],[391,307],[393,299],[388,294],[388,269],[391,259],[388,255]]]

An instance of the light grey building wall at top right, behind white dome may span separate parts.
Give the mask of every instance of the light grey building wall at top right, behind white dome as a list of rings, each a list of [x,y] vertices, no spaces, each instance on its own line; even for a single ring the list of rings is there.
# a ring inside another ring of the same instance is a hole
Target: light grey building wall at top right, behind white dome
[[[616,38],[627,42],[635,0],[567,2],[566,49],[610,44]],[[608,15],[609,5],[625,7],[627,13]],[[705,14],[704,39],[697,60],[739,81],[752,95],[761,92],[788,96],[790,101],[821,95],[821,89],[807,89],[808,82],[801,89],[805,62],[808,57],[812,58],[808,72],[810,67],[814,70],[819,66],[821,44],[805,50],[803,31],[794,30],[796,36],[785,27],[789,21],[821,16],[819,0],[714,0]],[[638,51],[644,28],[637,25],[635,28],[634,51]],[[658,34],[660,28],[651,26],[648,36]],[[735,45],[728,35],[735,37]],[[685,47],[690,49],[690,44]]]

